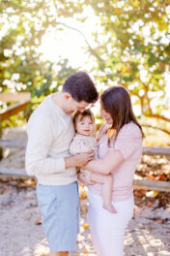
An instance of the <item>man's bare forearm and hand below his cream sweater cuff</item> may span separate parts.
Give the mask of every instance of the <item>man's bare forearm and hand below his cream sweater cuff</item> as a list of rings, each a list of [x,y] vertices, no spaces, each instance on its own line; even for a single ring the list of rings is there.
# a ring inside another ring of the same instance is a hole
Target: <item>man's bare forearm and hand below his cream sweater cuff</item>
[[[87,153],[75,154],[71,157],[65,157],[65,168],[84,166],[94,158],[94,155],[94,151],[90,151]]]

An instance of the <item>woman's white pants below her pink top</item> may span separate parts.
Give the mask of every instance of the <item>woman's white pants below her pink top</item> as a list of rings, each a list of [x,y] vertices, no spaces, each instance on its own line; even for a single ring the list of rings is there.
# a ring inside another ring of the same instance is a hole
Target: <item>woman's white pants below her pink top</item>
[[[123,256],[124,236],[133,214],[133,197],[127,201],[112,202],[117,214],[102,208],[99,195],[89,191],[89,224],[98,256]]]

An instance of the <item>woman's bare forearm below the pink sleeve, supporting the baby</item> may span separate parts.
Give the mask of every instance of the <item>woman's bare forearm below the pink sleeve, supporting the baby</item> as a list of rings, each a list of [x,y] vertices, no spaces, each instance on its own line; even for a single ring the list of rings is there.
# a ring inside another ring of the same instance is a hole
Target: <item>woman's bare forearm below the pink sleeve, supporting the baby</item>
[[[115,170],[125,161],[120,150],[109,150],[103,159],[92,160],[83,169],[95,174],[113,174]]]

